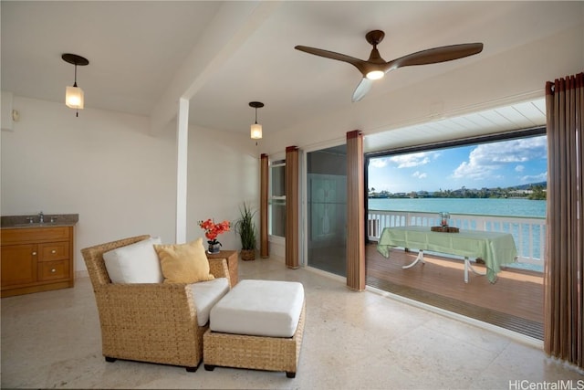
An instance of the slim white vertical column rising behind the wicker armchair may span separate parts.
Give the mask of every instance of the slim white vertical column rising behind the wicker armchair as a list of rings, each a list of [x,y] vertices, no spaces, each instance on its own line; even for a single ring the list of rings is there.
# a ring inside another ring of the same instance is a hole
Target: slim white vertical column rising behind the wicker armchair
[[[186,242],[186,178],[189,145],[189,100],[179,100],[176,120],[176,237],[177,244]]]

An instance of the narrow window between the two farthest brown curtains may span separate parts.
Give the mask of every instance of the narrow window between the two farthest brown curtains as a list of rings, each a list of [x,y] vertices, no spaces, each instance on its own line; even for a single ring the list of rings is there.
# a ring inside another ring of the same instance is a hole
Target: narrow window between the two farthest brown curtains
[[[286,160],[270,163],[269,234],[286,237]]]

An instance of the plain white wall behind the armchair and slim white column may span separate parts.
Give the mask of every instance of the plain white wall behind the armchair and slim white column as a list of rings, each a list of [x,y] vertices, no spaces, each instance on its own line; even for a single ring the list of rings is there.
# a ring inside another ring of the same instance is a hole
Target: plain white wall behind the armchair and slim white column
[[[146,117],[85,109],[76,118],[62,103],[16,96],[14,109],[20,121],[1,137],[3,216],[78,214],[78,271],[80,248],[141,234],[174,241],[174,128],[153,137]],[[203,237],[199,219],[233,220],[242,200],[258,198],[255,149],[244,139],[190,129],[187,239]],[[220,241],[240,248],[234,233]]]

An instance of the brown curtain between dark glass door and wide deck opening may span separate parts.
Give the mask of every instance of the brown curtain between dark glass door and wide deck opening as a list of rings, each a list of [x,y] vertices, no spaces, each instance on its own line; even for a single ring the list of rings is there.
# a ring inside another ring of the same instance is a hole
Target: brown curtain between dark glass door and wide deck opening
[[[365,290],[365,171],[363,135],[347,132],[347,287]]]

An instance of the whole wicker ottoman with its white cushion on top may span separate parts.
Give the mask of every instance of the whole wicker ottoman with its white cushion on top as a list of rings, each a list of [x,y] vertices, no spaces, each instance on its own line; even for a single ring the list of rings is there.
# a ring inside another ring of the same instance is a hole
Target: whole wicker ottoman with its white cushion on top
[[[205,370],[213,371],[218,365],[284,371],[288,378],[294,378],[305,315],[300,283],[241,280],[211,311],[209,330],[203,335]],[[296,326],[290,327],[296,318]]]

